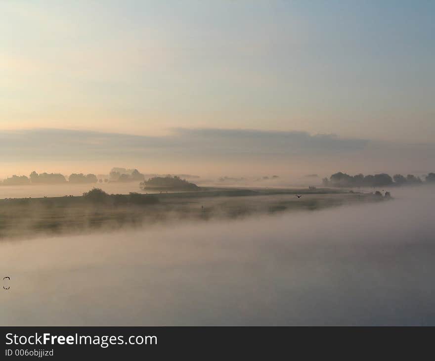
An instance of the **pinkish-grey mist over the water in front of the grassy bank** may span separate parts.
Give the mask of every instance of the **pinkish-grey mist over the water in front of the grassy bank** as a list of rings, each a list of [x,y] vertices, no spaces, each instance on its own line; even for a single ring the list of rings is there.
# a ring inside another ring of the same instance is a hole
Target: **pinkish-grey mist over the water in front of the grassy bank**
[[[2,325],[434,325],[432,187],[242,221],[0,243]]]

